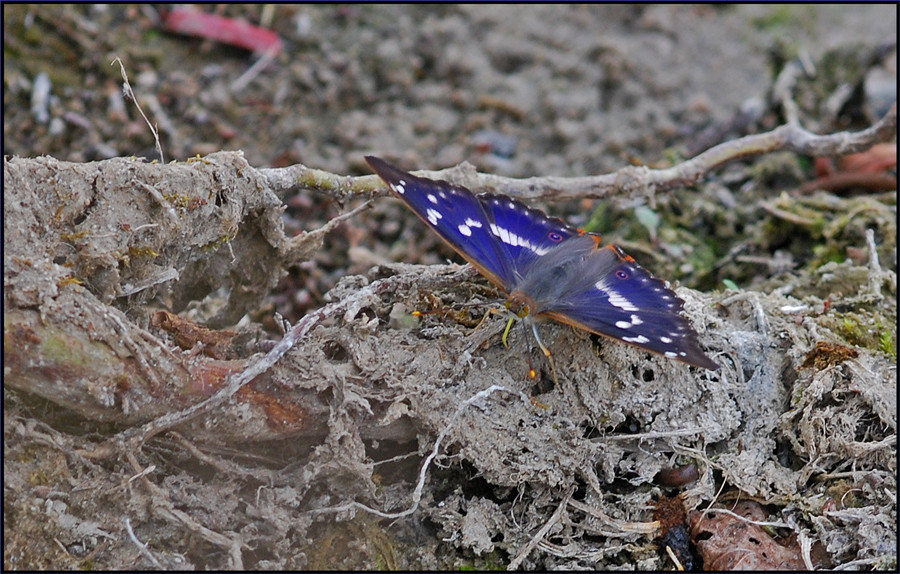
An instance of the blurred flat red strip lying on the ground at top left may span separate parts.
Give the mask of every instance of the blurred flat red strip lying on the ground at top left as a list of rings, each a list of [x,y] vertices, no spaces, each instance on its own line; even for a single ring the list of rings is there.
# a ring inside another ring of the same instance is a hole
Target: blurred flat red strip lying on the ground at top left
[[[162,28],[167,32],[215,40],[257,53],[281,52],[282,41],[272,30],[193,9],[173,8],[163,14]]]

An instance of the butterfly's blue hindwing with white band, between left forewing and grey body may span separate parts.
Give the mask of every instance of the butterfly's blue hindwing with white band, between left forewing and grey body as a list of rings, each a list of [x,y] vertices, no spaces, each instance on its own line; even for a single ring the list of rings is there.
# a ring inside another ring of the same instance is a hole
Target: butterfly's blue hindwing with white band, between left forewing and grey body
[[[505,195],[487,193],[478,199],[491,221],[491,232],[503,243],[520,275],[528,274],[536,258],[581,233],[561,219],[548,217]]]

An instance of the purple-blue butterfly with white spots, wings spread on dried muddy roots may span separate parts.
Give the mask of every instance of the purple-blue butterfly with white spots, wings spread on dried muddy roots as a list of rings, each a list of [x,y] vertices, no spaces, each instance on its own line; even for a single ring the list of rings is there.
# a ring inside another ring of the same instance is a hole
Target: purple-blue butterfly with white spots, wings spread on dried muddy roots
[[[684,301],[665,282],[600,236],[498,194],[407,173],[366,156],[390,190],[438,236],[507,294],[529,323],[553,319],[689,365],[719,368],[681,316]],[[504,334],[505,337],[505,334]]]

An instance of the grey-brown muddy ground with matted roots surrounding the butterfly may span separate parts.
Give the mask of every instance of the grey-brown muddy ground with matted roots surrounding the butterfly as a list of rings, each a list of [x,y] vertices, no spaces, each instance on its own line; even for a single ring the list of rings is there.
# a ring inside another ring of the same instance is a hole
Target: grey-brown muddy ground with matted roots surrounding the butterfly
[[[4,567],[896,569],[895,145],[533,201],[676,282],[722,366],[546,324],[535,379],[363,161],[665,168],[782,124],[798,63],[802,125],[862,130],[895,6],[217,8],[282,38],[257,69],[150,7],[3,10]]]

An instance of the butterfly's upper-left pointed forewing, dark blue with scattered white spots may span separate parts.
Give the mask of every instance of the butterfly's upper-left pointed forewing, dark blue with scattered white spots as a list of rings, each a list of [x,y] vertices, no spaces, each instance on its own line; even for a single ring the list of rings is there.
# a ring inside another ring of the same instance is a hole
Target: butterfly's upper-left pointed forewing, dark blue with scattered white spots
[[[366,162],[403,203],[450,247],[507,293],[519,281],[509,252],[491,231],[492,220],[468,189],[416,177],[377,157]]]

